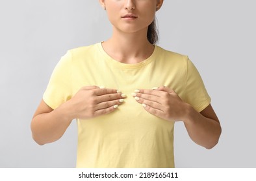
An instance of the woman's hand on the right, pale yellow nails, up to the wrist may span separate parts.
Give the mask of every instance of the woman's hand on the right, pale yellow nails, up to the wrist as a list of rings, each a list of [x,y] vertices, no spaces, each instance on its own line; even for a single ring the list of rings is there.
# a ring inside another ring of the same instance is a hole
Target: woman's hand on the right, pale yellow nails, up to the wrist
[[[161,86],[152,90],[139,89],[133,93],[133,96],[147,112],[164,120],[177,122],[186,118],[188,104],[168,87]]]

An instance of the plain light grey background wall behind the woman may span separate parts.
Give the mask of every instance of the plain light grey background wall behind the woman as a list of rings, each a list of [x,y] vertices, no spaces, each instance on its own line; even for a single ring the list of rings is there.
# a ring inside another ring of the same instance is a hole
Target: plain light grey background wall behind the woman
[[[176,167],[255,167],[255,1],[165,0],[159,45],[198,68],[222,123],[214,149],[175,124]],[[66,50],[106,40],[111,26],[97,0],[0,3],[0,167],[75,167],[77,125],[36,145],[30,123]]]

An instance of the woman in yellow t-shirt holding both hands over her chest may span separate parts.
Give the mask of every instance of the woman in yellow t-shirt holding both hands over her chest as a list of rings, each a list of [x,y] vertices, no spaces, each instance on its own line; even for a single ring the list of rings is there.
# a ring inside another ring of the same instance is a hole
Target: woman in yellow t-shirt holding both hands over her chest
[[[60,59],[32,119],[34,140],[55,142],[77,119],[77,167],[174,167],[177,121],[196,144],[214,147],[221,127],[198,71],[155,45],[163,0],[99,3],[112,37]]]

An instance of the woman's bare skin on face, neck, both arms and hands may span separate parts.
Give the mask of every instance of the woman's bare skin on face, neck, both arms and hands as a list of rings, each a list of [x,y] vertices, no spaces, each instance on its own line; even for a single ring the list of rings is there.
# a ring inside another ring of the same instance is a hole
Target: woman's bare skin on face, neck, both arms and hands
[[[154,46],[147,41],[147,27],[155,18],[163,0],[99,0],[106,9],[113,33],[102,46],[122,63],[139,63],[148,58]],[[124,17],[133,14],[134,18]],[[168,87],[155,90],[138,89],[135,100],[145,111],[166,121],[182,120],[190,138],[198,145],[211,149],[218,143],[221,127],[211,104],[197,112]],[[55,142],[65,133],[75,118],[87,120],[116,110],[125,98],[116,89],[97,86],[82,87],[73,98],[53,110],[41,101],[31,122],[32,136],[40,144]]]

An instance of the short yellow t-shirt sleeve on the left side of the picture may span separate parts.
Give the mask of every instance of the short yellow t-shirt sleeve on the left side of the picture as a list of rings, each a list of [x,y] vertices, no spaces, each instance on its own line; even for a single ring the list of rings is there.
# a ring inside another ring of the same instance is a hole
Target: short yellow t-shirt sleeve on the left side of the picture
[[[56,109],[71,98],[71,52],[68,51],[58,61],[44,92],[43,100]]]

